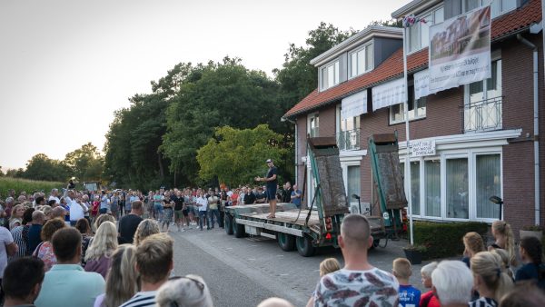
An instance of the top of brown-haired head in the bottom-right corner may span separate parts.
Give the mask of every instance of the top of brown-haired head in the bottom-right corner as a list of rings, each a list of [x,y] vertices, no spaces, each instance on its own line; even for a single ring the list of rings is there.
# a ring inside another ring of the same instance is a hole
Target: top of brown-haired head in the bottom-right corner
[[[532,282],[520,282],[503,295],[500,307],[543,307],[545,292]]]

